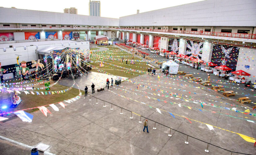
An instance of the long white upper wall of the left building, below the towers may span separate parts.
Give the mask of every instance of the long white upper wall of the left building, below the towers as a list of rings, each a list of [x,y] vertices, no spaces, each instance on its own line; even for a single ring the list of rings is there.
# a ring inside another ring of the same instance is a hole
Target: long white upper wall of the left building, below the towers
[[[0,7],[0,23],[118,26],[119,19]]]

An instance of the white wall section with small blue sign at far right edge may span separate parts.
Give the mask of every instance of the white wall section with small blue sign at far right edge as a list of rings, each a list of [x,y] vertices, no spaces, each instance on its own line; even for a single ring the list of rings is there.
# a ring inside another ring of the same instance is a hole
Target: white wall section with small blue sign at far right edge
[[[245,65],[249,65],[249,69],[245,68]],[[256,80],[256,49],[249,49],[240,47],[239,55],[236,64],[236,70],[243,70],[249,74],[250,77],[245,77],[246,79],[251,78],[251,82],[255,83]]]

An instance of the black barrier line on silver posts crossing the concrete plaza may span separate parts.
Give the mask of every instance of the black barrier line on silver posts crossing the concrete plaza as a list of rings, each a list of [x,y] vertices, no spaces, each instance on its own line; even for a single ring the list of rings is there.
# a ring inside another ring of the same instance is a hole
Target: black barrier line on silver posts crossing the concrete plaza
[[[128,109],[125,109],[125,108],[123,108],[123,107],[120,107],[119,105],[110,103],[110,102],[105,101],[105,100],[101,100],[101,99],[99,99],[99,98],[97,98],[97,97],[94,97],[94,96],[92,96],[92,95],[90,95],[90,94],[88,94],[88,95],[90,96],[90,97],[89,97],[89,101],[92,101],[92,98],[95,98],[95,99],[96,99],[95,104],[99,104],[98,100],[103,101],[103,108],[106,108],[106,104],[105,104],[105,103],[111,104],[110,110],[114,110],[114,109],[113,109],[113,105],[116,106],[116,107],[118,107],[118,108],[121,108],[120,115],[122,115],[122,114],[123,114],[123,111],[126,110],[126,111],[128,111],[128,112],[131,113],[130,119],[133,119],[132,113],[135,114],[135,115],[137,115],[137,116],[140,116],[140,121],[139,121],[139,123],[142,123],[141,118],[145,118],[145,119],[148,119],[148,120],[150,120],[150,121],[152,121],[152,122],[155,122],[155,125],[154,125],[154,127],[153,127],[153,130],[156,130],[156,124],[159,124],[159,125],[161,125],[161,126],[167,127],[168,129],[170,129],[170,132],[169,132],[169,134],[168,134],[169,137],[172,136],[172,135],[171,135],[171,131],[172,131],[172,130],[177,131],[177,132],[179,132],[179,133],[181,133],[181,134],[183,134],[183,135],[186,135],[185,144],[189,144],[189,142],[188,142],[188,138],[189,138],[189,137],[190,137],[190,138],[193,138],[193,139],[196,139],[196,140],[199,140],[199,141],[201,141],[201,142],[204,142],[205,144],[207,144],[207,147],[206,147],[206,149],[204,150],[205,152],[209,152],[208,148],[209,148],[210,145],[212,145],[212,146],[215,146],[215,147],[217,147],[217,148],[220,148],[220,149],[223,149],[223,150],[226,150],[226,151],[230,152],[231,155],[232,155],[232,153],[239,153],[239,152],[235,152],[235,151],[230,151],[230,150],[228,150],[228,149],[219,147],[219,146],[217,146],[217,145],[211,144],[211,143],[206,142],[206,141],[204,141],[204,140],[195,138],[195,137],[193,137],[193,136],[191,136],[191,135],[185,134],[185,133],[183,133],[183,132],[181,132],[181,131],[178,131],[178,130],[175,130],[175,129],[169,127],[169,126],[166,126],[166,125],[161,124],[161,123],[159,123],[159,122],[156,122],[156,121],[154,121],[154,120],[152,120],[152,119],[149,119],[149,118],[147,118],[147,117],[144,117],[144,116],[141,116],[141,115],[139,115],[139,114],[137,114],[137,113],[134,113],[134,112],[132,112],[132,111],[130,111],[130,110],[128,110]],[[91,98],[91,97],[92,97],[92,98]],[[246,153],[239,153],[239,154],[250,155],[250,154],[246,154]]]

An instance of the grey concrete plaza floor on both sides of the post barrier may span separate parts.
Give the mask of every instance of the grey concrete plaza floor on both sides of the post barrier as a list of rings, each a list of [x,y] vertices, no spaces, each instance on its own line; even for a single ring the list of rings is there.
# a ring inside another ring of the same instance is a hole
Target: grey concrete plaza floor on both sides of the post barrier
[[[161,76],[162,75],[160,75],[160,77]],[[64,80],[65,85],[73,84],[73,80],[71,79]],[[156,85],[160,86],[164,84],[159,82],[176,82],[173,79],[164,79],[164,77],[161,77],[159,81],[156,77],[152,78],[150,75],[143,75],[133,79],[133,81],[136,82],[141,82],[142,80],[150,80],[152,82],[147,83],[158,83]],[[82,84],[82,81],[80,82],[81,85],[84,85]],[[84,80],[84,83],[85,82],[86,80]],[[195,91],[195,88],[181,86],[181,83],[183,85],[186,84],[201,87],[201,85],[196,83],[182,81],[176,83],[177,85],[171,85],[173,89],[163,88],[160,86],[151,87],[187,96],[191,94],[188,92],[178,91],[178,89],[186,89],[192,92]],[[195,108],[201,107],[200,104],[185,102],[184,100],[176,100],[175,97],[171,99],[170,97],[167,98],[162,96],[163,93],[148,89],[147,86],[149,85],[147,84],[145,84],[145,87],[139,87],[139,90],[136,91],[137,95],[131,92],[128,93],[128,91],[135,92],[134,90],[136,90],[137,87],[136,84],[133,84],[132,82],[122,82],[121,86],[123,87],[115,86],[115,88],[111,88],[110,91],[106,90],[94,94],[94,96],[102,100],[107,100],[108,102],[116,104],[122,108],[131,110],[132,112],[144,117],[148,117],[149,119],[164,124],[165,126],[172,127],[177,131],[231,151],[249,154],[255,154],[256,152],[256,148],[253,147],[253,143],[246,142],[235,133],[214,127],[214,130],[217,133],[216,135],[215,132],[210,131],[205,124],[195,121],[191,121],[191,124],[184,117],[250,137],[256,137],[255,123],[220,115],[218,113],[206,111],[201,112],[197,109],[188,109],[186,107],[180,108],[177,104],[172,105],[168,102],[159,102],[158,100],[152,99],[152,97],[160,100],[181,103]],[[127,91],[121,91],[118,88],[121,88],[121,90],[126,89]],[[202,94],[209,93],[206,89],[196,89],[196,92]],[[156,96],[149,93],[161,95]],[[217,92],[212,93],[215,96],[222,97],[222,95],[219,95]],[[124,98],[121,95],[130,99]],[[146,98],[146,95],[149,96],[150,99]],[[191,97],[193,100],[198,100],[198,98],[200,98],[201,101],[207,103],[209,100],[216,100],[217,102],[213,102],[213,104],[232,108],[230,105],[224,104],[226,102],[230,103],[230,100],[228,99],[216,98],[214,96],[205,97],[200,94],[193,94]],[[1,123],[0,135],[30,146],[36,146],[39,143],[50,145],[50,148],[46,151],[55,154],[231,154],[228,151],[212,145],[208,148],[210,152],[205,153],[204,150],[207,147],[206,143],[189,137],[189,144],[185,144],[186,135],[177,131],[172,131],[171,134],[173,136],[169,137],[168,134],[170,129],[156,124],[156,130],[153,130],[153,121],[149,121],[150,133],[143,132],[143,124],[138,123],[140,119],[139,116],[133,113],[133,119],[130,119],[131,113],[124,109],[122,111],[124,114],[120,115],[120,108],[113,106],[114,110],[110,110],[111,104],[105,103],[106,108],[104,108],[102,101],[98,100],[99,104],[95,104],[95,99],[92,99],[92,101],[89,101],[88,99],[89,97],[86,97],[85,99],[82,97],[74,103],[67,103],[65,109],[56,105],[60,109],[58,112],[49,107],[48,109],[52,114],[48,113],[47,117],[45,117],[40,111],[36,111],[32,113],[34,115],[32,123],[22,122],[20,118]],[[173,118],[169,113],[163,111],[162,114],[160,114],[155,108],[150,108],[148,105],[138,103],[131,99],[144,102],[151,106],[164,109],[184,117],[175,116],[176,118]],[[254,120],[255,118],[253,116],[236,113],[225,108],[205,106],[204,109],[236,117],[248,117],[247,119],[250,120]],[[238,109],[241,110],[242,108],[238,107]],[[142,122],[143,121],[144,119]]]

